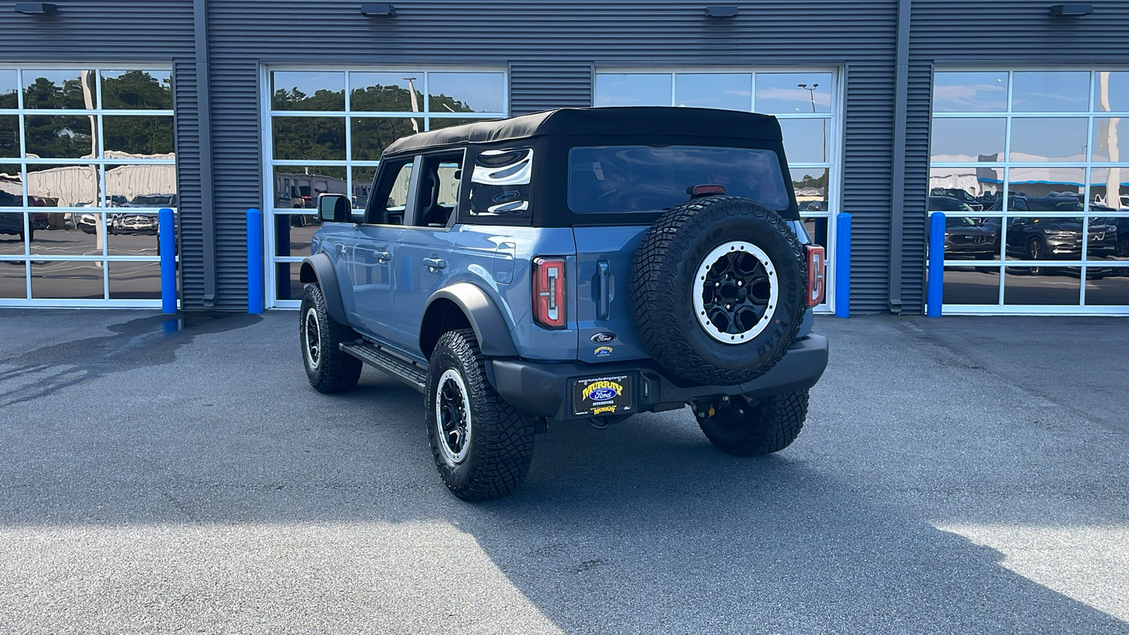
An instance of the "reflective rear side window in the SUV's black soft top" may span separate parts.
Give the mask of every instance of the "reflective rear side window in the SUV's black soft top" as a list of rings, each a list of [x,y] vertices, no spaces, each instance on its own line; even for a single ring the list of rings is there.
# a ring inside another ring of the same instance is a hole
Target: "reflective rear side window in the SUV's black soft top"
[[[530,216],[533,148],[483,150],[471,175],[471,216]]]

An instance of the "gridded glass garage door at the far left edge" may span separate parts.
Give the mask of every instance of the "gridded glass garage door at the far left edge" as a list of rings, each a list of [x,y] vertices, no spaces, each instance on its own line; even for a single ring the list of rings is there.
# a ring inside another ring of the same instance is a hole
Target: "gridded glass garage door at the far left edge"
[[[159,306],[172,72],[0,68],[0,305]]]

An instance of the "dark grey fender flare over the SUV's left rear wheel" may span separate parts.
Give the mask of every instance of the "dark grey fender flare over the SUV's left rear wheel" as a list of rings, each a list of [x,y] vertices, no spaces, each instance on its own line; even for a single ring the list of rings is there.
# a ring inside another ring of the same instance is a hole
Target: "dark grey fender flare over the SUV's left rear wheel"
[[[501,310],[478,285],[458,282],[431,294],[420,321],[420,351],[430,358],[443,333],[460,328],[474,331],[487,357],[518,356]]]

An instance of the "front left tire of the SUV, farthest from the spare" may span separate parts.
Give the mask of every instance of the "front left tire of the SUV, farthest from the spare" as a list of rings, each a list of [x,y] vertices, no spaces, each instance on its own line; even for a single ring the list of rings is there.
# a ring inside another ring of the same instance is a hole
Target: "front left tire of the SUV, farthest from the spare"
[[[310,320],[316,320],[316,324],[309,324]],[[315,327],[317,332],[316,359],[312,359],[314,356],[308,350],[310,343],[308,327]],[[357,338],[356,331],[330,318],[322,288],[316,284],[306,285],[298,318],[298,343],[301,348],[301,363],[306,367],[306,377],[317,392],[331,394],[357,388],[361,360],[338,348],[339,343],[353,341]]]

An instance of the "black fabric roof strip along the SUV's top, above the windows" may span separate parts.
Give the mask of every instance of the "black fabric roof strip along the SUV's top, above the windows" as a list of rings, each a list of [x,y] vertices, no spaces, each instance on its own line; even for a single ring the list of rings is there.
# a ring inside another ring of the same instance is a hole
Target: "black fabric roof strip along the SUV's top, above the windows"
[[[552,134],[584,136],[686,136],[719,139],[780,141],[774,116],[674,106],[623,106],[558,108],[540,113],[464,123],[403,137],[385,150],[395,155],[443,146],[510,141]]]

